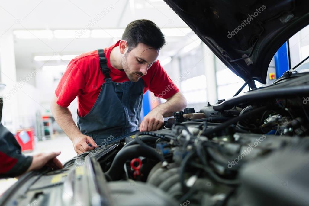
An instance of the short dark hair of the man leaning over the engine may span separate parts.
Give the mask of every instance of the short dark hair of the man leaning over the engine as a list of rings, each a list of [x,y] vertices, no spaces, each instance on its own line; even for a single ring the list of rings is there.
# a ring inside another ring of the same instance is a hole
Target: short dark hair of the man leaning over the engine
[[[135,48],[138,43],[161,49],[166,41],[161,29],[148,19],[138,19],[125,27],[121,40],[128,42],[128,52]]]

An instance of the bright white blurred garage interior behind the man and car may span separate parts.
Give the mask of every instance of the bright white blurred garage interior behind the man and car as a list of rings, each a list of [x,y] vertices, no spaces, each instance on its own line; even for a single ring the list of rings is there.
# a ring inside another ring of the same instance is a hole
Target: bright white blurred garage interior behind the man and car
[[[72,142],[50,111],[61,75],[72,58],[115,44],[135,19],[152,20],[166,36],[159,61],[184,94],[187,107],[199,111],[207,103],[229,99],[245,83],[163,0],[39,0],[15,4],[0,4],[1,123],[15,135],[26,155],[59,150],[61,162],[76,156]],[[257,87],[272,84],[309,56],[308,34],[309,27],[305,27],[282,45],[269,64],[267,84],[256,81]],[[241,93],[248,90],[247,86]],[[141,117],[164,102],[147,91]],[[77,99],[69,109],[76,120]],[[0,179],[0,195],[16,181]]]

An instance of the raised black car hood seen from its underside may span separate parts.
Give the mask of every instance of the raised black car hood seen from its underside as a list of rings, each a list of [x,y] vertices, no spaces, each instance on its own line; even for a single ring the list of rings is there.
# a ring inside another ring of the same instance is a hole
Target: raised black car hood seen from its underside
[[[278,48],[309,22],[306,0],[164,1],[245,81],[266,83]]]

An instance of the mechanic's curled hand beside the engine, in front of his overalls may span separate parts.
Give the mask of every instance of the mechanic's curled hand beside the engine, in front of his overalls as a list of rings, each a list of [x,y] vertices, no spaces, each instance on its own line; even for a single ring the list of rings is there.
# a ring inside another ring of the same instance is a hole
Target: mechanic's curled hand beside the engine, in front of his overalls
[[[154,131],[161,128],[163,124],[163,116],[159,112],[150,111],[148,115],[146,115],[139,126],[139,131]]]

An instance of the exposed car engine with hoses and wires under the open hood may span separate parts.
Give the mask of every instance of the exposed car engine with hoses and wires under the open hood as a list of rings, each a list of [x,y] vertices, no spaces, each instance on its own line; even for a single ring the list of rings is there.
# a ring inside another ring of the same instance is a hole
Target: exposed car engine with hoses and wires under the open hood
[[[214,107],[228,101],[208,103],[198,113],[193,108],[175,112],[161,130],[127,137],[111,162],[102,160],[105,177],[117,187],[119,180],[144,183],[143,191],[155,187],[175,205],[303,205],[308,197],[297,192],[308,185],[309,108],[301,97],[279,96],[252,98],[222,111]],[[299,167],[304,169],[291,179]],[[288,183],[295,191],[284,191],[283,198],[278,190]],[[269,200],[260,201],[265,193]],[[139,202],[136,198],[132,205]]]

